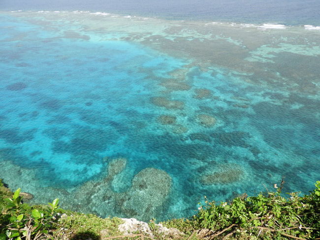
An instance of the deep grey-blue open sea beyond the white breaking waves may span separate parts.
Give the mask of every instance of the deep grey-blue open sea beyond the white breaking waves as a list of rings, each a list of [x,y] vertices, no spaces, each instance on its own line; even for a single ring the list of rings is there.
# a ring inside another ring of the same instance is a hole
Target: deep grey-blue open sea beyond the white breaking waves
[[[319,0],[1,0],[2,10],[92,10],[183,20],[320,25]]]

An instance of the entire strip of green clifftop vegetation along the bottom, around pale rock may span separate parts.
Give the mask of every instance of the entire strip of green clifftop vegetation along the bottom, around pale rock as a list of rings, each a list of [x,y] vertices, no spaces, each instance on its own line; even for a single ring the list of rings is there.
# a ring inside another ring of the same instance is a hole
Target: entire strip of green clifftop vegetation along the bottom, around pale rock
[[[320,181],[309,195],[282,195],[284,181],[276,191],[248,197],[246,194],[229,203],[210,202],[205,198],[190,219],[171,219],[161,224],[176,228],[181,235],[163,235],[155,219],[149,222],[151,239],[320,239]],[[144,235],[121,235],[121,218],[100,218],[59,208],[55,199],[47,206],[23,203],[20,188],[11,193],[0,182],[0,240],[103,240],[138,239]],[[131,236],[131,237],[130,237]],[[115,238],[113,238],[115,239]]]

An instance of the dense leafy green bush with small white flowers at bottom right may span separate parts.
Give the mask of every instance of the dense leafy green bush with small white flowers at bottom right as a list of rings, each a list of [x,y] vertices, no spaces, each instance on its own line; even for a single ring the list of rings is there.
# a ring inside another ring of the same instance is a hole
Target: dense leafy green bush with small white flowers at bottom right
[[[277,187],[275,185],[275,187]],[[230,204],[215,202],[199,207],[194,216],[199,228],[208,228],[219,235],[260,236],[263,239],[313,238],[320,231],[320,181],[316,189],[304,197],[290,193],[289,199],[280,195],[281,188],[267,196],[242,196]]]

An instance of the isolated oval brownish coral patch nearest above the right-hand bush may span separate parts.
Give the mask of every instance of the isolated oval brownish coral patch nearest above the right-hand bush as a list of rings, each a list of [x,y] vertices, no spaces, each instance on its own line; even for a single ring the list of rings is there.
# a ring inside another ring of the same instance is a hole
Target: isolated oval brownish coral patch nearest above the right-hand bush
[[[200,182],[203,185],[229,184],[239,181],[244,171],[235,164],[220,165],[216,171],[201,177]]]

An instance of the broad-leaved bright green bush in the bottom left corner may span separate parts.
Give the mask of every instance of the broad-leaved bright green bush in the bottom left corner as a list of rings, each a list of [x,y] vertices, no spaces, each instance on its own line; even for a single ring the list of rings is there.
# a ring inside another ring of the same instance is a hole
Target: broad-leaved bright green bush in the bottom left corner
[[[37,240],[53,228],[52,220],[58,208],[59,200],[55,199],[43,209],[30,208],[22,203],[20,188],[12,198],[5,198],[7,203],[0,215],[0,240]]]

